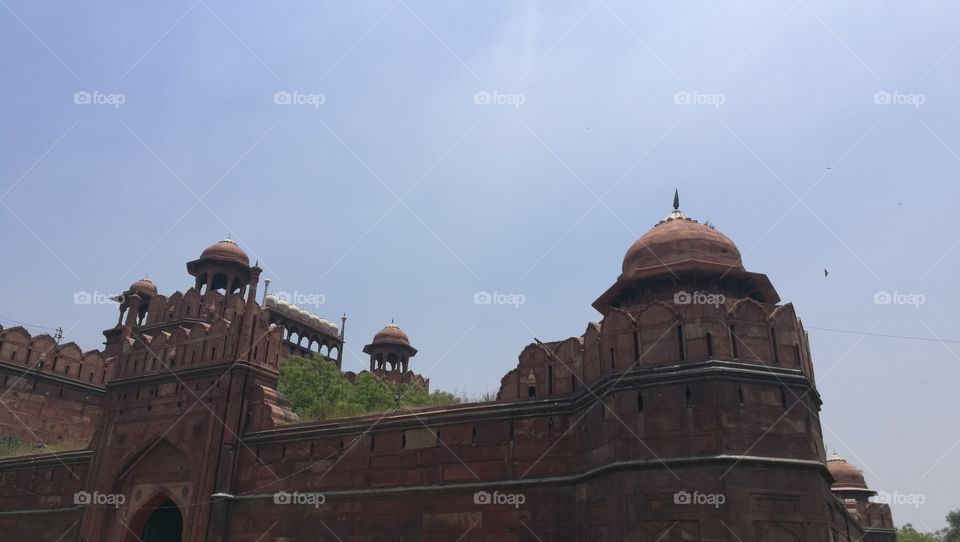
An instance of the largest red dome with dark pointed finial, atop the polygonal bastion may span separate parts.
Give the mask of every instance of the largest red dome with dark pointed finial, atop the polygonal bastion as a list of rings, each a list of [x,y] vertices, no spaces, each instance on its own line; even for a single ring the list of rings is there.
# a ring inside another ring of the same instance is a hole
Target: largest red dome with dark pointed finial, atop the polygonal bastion
[[[662,267],[687,260],[699,260],[743,269],[740,251],[726,235],[700,224],[679,210],[674,210],[642,237],[623,257],[623,272],[648,267]]]

